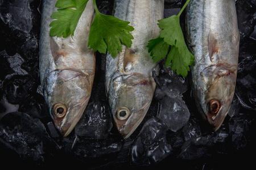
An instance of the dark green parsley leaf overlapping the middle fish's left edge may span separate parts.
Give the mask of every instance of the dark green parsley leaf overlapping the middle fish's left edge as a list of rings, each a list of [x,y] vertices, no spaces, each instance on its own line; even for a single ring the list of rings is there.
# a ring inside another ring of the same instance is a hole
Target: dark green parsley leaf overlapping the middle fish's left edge
[[[133,31],[134,28],[128,25],[130,22],[101,14],[95,3],[94,8],[96,15],[90,27],[88,46],[94,52],[98,50],[100,53],[106,53],[108,51],[115,58],[118,51],[122,51],[122,44],[131,47],[133,43],[131,39],[134,37],[130,31]]]

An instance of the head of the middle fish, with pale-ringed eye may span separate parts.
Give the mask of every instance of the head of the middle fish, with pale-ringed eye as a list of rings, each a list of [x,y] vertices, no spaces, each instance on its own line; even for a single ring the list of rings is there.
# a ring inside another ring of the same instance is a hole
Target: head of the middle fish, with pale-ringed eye
[[[115,126],[124,139],[141,124],[155,91],[152,77],[142,74],[120,75],[109,89],[109,103]]]

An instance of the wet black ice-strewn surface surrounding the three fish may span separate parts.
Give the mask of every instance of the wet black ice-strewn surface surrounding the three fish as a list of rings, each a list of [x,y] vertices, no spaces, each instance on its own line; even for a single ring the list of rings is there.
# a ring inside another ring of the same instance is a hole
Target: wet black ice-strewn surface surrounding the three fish
[[[111,14],[113,1],[98,1]],[[82,169],[249,169],[255,162],[256,1],[236,1],[240,58],[232,108],[213,132],[191,97],[189,76],[155,76],[158,87],[141,125],[124,141],[112,124],[105,93],[105,55],[97,53],[92,97],[72,133],[55,129],[39,78],[39,0],[0,1],[0,163],[7,167]],[[179,1],[166,1],[168,17]],[[20,10],[22,8],[23,10]],[[181,20],[181,22],[183,22]],[[32,24],[32,25],[31,25]],[[175,91],[174,94],[170,90]],[[182,94],[182,96],[181,96]],[[181,97],[190,116],[176,131],[159,118],[167,97]],[[164,100],[163,100],[164,99]],[[144,126],[143,126],[144,125]]]

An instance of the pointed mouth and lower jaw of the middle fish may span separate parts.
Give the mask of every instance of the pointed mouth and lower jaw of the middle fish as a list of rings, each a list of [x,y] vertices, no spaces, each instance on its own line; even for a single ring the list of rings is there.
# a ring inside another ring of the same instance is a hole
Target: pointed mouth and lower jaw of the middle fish
[[[130,117],[127,120],[117,120],[114,118],[115,125],[117,126],[117,130],[121,133],[123,139],[127,139],[131,134],[138,128],[141,124],[143,118],[145,117],[148,108],[150,107],[151,101],[146,103],[141,109],[138,109],[135,112],[132,112]]]

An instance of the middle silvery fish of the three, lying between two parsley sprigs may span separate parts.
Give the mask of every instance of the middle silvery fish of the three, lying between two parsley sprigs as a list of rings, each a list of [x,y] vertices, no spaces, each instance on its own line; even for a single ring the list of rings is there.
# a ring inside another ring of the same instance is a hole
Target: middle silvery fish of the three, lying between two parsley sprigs
[[[134,39],[131,48],[113,59],[106,56],[106,90],[115,125],[123,138],[139,126],[150,107],[155,91],[152,69],[156,66],[147,52],[147,42],[159,35],[158,20],[163,18],[163,0],[118,0],[114,16],[130,22]]]

